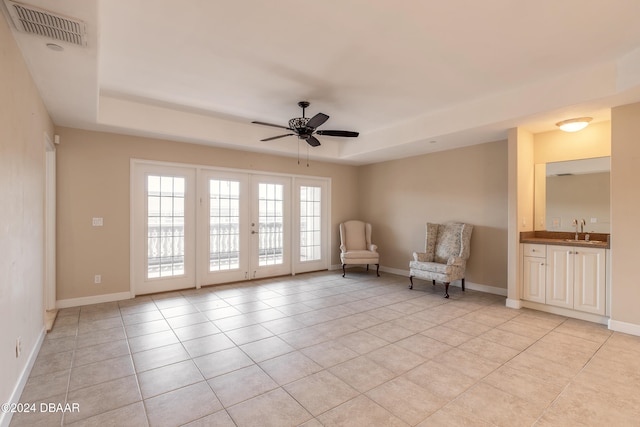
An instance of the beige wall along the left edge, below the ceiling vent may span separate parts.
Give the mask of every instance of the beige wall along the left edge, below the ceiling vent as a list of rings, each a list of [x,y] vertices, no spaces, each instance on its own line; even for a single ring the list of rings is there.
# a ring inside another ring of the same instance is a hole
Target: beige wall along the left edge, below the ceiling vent
[[[10,401],[44,332],[45,132],[53,138],[53,123],[0,13],[2,403]],[[18,336],[22,337],[22,355],[16,358]],[[5,415],[0,413],[0,424]]]

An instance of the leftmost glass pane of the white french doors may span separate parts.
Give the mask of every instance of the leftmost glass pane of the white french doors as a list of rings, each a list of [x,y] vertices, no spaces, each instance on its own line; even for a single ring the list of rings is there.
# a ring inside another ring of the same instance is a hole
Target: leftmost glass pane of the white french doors
[[[185,178],[147,176],[147,278],[184,275]]]

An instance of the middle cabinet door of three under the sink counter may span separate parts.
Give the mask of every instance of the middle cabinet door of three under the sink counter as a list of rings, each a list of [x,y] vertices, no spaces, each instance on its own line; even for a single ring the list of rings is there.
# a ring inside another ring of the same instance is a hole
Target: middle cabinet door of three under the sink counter
[[[547,246],[546,302],[557,307],[573,308],[574,248]]]

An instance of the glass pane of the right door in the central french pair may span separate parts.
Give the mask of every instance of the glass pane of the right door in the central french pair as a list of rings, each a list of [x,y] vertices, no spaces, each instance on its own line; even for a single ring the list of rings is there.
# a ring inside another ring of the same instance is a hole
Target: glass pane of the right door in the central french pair
[[[258,265],[283,263],[282,184],[258,184]]]

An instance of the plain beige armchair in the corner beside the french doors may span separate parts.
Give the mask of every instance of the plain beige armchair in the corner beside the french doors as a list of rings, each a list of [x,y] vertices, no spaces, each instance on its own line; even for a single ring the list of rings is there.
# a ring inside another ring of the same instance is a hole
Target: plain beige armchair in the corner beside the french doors
[[[376,265],[376,274],[380,276],[380,254],[378,247],[371,243],[371,224],[362,221],[346,221],[340,224],[340,261],[342,277],[347,264]]]

